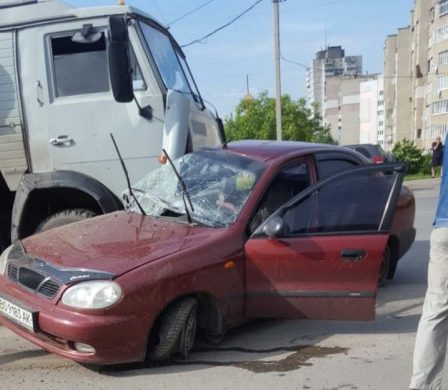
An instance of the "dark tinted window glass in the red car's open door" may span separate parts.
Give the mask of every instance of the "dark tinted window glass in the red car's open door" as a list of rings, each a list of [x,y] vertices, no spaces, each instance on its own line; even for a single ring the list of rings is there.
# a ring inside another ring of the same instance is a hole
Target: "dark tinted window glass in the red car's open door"
[[[276,214],[284,221],[284,234],[388,230],[391,217],[385,210],[397,173],[373,168],[337,175],[281,209]]]

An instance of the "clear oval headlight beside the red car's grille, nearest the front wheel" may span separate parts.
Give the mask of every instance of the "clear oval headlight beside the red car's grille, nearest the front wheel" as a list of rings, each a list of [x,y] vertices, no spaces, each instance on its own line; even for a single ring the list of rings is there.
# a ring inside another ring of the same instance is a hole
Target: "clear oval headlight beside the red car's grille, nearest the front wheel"
[[[69,287],[62,295],[62,303],[77,309],[105,309],[117,303],[122,295],[117,283],[92,280]]]

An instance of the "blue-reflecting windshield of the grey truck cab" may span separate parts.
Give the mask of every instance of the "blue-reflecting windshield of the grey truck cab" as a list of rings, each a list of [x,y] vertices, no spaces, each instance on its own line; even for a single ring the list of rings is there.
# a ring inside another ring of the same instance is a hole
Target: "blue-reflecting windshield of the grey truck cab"
[[[196,94],[191,89],[193,86],[188,82],[192,76],[188,74],[187,78],[185,75],[188,69],[182,66],[183,59],[176,52],[168,35],[141,21],[140,27],[165,87],[195,97]]]

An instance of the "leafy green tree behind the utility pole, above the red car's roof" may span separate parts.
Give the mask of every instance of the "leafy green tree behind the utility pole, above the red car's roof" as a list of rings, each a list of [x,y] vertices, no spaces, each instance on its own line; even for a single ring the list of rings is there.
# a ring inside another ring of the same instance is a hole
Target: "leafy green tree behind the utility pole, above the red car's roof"
[[[305,99],[294,101],[282,96],[282,138],[291,141],[334,143],[329,126],[321,125],[317,106],[306,106]],[[235,109],[235,117],[226,118],[229,141],[240,139],[276,139],[275,99],[264,91],[257,98],[244,98]]]

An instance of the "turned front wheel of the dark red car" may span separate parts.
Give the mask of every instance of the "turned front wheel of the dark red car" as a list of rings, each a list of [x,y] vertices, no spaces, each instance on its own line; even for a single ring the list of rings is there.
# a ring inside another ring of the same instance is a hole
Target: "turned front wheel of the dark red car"
[[[149,358],[153,361],[167,360],[179,352],[187,357],[194,345],[197,326],[197,301],[185,298],[172,305],[162,314],[155,329]]]

